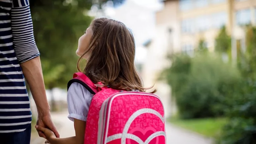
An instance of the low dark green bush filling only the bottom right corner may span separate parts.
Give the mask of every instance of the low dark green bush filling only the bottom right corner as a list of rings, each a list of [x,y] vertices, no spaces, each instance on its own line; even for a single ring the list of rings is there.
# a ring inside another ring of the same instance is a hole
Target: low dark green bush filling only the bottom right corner
[[[244,82],[239,88],[240,95],[231,97],[226,112],[229,118],[222,131],[220,144],[256,144],[256,90]]]

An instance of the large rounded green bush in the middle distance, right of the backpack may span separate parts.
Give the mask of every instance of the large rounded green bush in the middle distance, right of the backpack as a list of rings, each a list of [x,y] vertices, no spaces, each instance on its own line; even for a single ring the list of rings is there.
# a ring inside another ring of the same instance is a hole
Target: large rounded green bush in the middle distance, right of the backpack
[[[171,61],[172,66],[164,75],[172,87],[179,116],[184,119],[222,116],[228,107],[227,93],[240,81],[238,70],[210,53],[197,53],[194,57],[175,55]]]

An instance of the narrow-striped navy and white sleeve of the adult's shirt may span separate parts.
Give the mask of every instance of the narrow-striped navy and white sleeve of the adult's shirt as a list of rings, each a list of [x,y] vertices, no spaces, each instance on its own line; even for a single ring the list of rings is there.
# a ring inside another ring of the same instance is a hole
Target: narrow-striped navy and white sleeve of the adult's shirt
[[[19,63],[40,55],[35,44],[29,0],[13,0],[11,9],[13,45]]]

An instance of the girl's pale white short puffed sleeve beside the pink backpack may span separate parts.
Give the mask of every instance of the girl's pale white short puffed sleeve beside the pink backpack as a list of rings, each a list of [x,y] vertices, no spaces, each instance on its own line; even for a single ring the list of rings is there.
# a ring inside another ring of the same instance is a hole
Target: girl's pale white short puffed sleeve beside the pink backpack
[[[93,95],[84,86],[79,83],[72,83],[68,89],[67,97],[68,118],[71,121],[74,121],[74,118],[86,121],[92,97]]]

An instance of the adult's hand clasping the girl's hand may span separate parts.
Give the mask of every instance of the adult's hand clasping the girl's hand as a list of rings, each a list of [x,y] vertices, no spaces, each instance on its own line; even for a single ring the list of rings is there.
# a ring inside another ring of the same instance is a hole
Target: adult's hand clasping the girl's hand
[[[58,133],[58,131],[57,131],[57,129],[56,129],[56,127],[55,127],[53,121],[52,121],[52,117],[51,117],[50,113],[48,113],[48,114],[46,114],[46,115],[40,115],[40,114],[39,114],[39,115],[38,115],[38,118],[37,118],[37,125],[38,125],[38,126],[41,126],[41,127],[43,127],[43,128],[48,128],[48,129],[50,129],[51,131],[54,132],[55,136],[56,136],[57,138],[59,138],[59,133]],[[38,131],[38,135],[39,135],[40,137],[46,139],[45,134],[44,134],[41,130],[37,129],[37,131]]]

